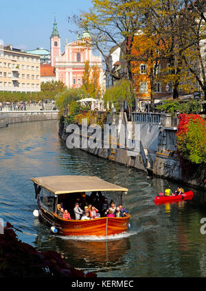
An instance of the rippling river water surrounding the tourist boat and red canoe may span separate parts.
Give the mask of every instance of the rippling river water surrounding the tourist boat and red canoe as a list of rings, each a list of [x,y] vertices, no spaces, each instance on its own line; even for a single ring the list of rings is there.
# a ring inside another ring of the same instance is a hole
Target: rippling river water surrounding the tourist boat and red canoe
[[[206,217],[203,191],[192,189],[191,201],[155,205],[155,194],[164,191],[167,181],[67,149],[58,137],[58,121],[11,124],[0,129],[0,137],[0,218],[23,231],[16,232],[23,242],[57,251],[71,266],[94,271],[98,277],[206,276],[206,234],[200,231],[201,218]],[[128,232],[111,240],[71,240],[54,235],[34,218],[30,178],[66,174],[95,175],[127,187]],[[180,185],[170,182],[170,186]]]

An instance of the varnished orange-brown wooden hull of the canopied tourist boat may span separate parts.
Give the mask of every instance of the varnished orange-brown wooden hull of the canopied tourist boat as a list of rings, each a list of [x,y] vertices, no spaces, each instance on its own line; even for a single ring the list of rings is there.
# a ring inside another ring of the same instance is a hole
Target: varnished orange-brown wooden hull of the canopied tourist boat
[[[130,215],[124,218],[95,218],[93,220],[65,220],[38,205],[38,210],[45,222],[58,229],[59,235],[96,235],[106,236],[122,233],[128,229]]]

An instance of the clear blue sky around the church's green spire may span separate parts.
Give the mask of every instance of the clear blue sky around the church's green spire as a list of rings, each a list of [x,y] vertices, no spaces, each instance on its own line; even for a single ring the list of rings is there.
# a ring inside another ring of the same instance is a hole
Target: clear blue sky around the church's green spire
[[[76,39],[68,17],[91,8],[91,0],[12,0],[1,1],[0,39],[21,49],[50,49],[54,14],[61,47]]]

